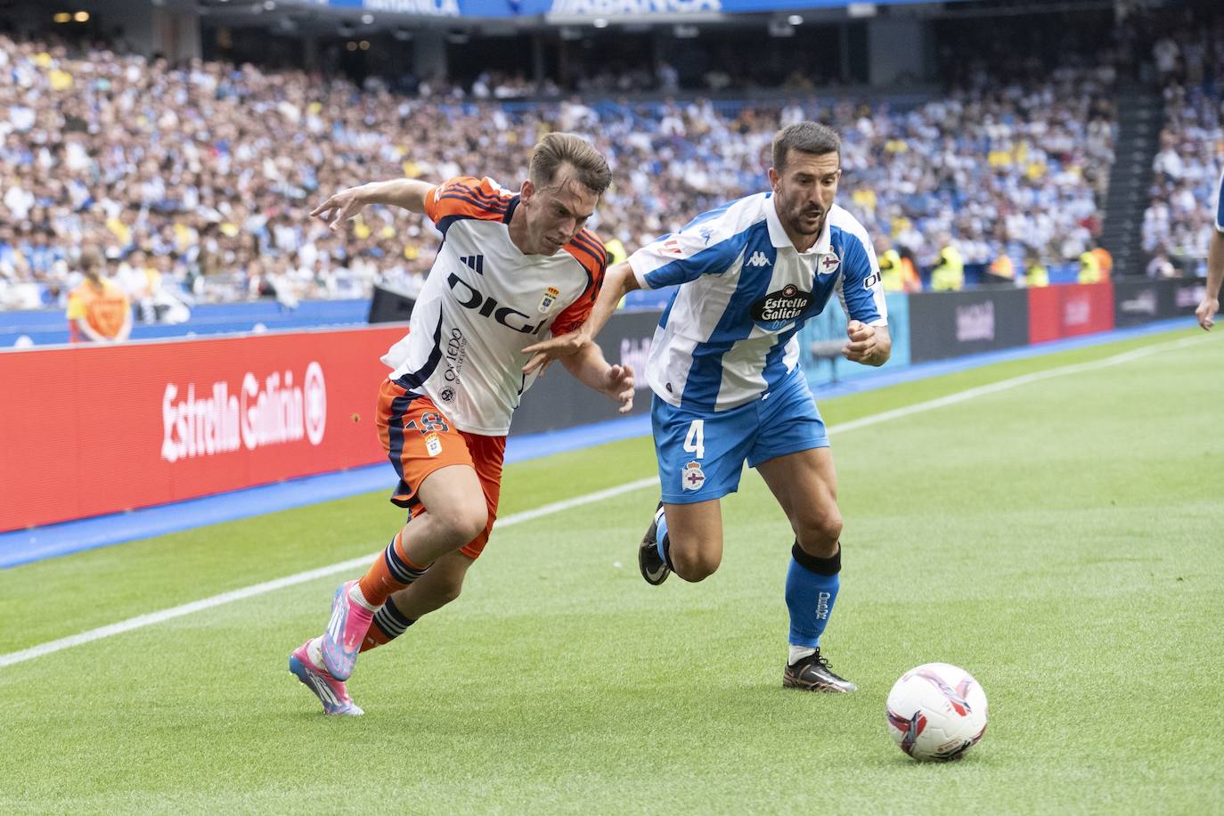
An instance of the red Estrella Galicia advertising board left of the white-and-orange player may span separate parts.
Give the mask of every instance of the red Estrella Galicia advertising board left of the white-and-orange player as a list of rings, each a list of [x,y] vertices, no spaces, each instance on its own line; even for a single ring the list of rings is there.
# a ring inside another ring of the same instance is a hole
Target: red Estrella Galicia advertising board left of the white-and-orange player
[[[383,459],[404,327],[0,354],[0,532]]]

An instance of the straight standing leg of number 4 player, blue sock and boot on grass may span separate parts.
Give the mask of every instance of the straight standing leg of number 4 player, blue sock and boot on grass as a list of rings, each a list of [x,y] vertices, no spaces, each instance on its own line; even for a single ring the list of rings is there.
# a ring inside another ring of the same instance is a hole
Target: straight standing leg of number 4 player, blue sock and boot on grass
[[[786,576],[791,650],[782,684],[810,691],[854,691],[857,686],[834,674],[820,653],[820,636],[841,586],[842,517],[832,454],[829,448],[813,448],[770,459],[758,471],[794,531]]]

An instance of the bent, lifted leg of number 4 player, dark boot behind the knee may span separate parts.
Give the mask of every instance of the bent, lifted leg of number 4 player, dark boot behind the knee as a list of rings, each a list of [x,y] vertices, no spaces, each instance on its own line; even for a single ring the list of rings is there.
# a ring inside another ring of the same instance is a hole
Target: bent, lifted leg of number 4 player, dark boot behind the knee
[[[722,563],[722,506],[718,499],[693,504],[660,504],[638,549],[638,568],[647,584],[662,584],[671,573],[701,581]]]

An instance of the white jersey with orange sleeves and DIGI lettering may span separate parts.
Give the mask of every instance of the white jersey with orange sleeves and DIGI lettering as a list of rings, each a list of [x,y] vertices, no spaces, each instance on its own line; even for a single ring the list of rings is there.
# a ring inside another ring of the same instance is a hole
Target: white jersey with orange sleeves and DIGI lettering
[[[525,346],[581,325],[595,305],[607,252],[589,230],[552,256],[510,241],[517,193],[461,176],[430,190],[425,212],[442,248],[417,296],[409,333],[382,358],[389,379],[426,394],[469,433],[504,436],[519,399]]]

